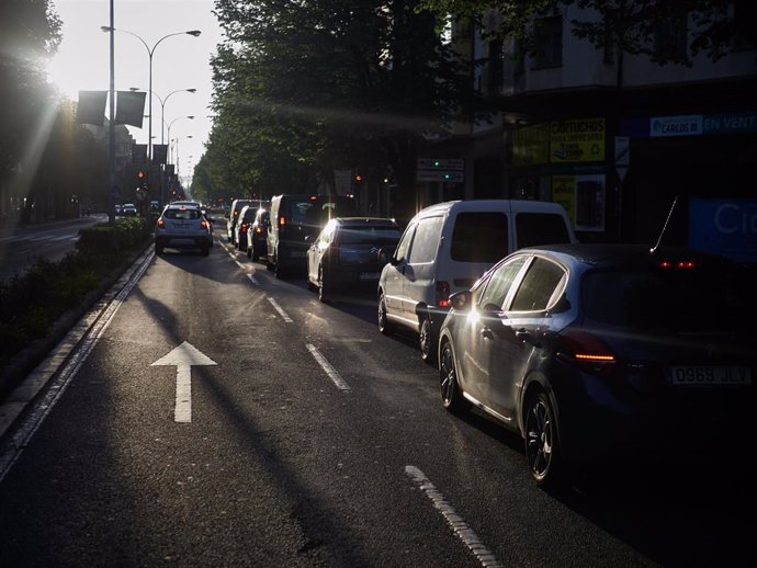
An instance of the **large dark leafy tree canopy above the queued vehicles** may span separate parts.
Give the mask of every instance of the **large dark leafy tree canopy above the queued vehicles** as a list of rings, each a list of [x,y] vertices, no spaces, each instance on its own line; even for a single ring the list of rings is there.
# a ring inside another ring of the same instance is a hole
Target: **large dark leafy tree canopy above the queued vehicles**
[[[433,14],[415,0],[218,0],[216,13],[208,154],[230,179],[272,194],[392,169],[410,198],[417,147],[472,90]]]

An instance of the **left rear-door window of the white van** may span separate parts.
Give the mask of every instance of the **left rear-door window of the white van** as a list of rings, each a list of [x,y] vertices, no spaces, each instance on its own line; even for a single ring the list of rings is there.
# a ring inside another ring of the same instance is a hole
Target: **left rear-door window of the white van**
[[[450,253],[457,262],[494,264],[507,257],[507,215],[498,212],[459,213],[452,230]]]

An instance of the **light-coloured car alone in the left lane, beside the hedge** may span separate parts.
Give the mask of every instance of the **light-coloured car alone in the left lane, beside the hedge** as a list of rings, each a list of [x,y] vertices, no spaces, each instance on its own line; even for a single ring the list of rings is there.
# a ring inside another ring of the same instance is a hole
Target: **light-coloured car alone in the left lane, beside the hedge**
[[[167,205],[158,217],[155,228],[155,252],[173,245],[177,248],[193,247],[207,255],[213,242],[210,223],[199,207]]]

